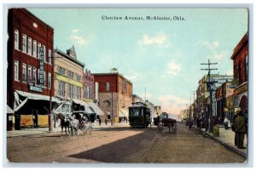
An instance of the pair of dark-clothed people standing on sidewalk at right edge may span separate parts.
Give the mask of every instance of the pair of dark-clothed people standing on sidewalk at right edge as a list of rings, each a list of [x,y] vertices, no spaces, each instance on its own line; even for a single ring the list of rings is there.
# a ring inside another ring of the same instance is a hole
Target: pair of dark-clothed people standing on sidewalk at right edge
[[[243,140],[247,134],[247,111],[237,110],[233,117],[232,131],[235,132],[235,145],[239,149],[245,149]]]

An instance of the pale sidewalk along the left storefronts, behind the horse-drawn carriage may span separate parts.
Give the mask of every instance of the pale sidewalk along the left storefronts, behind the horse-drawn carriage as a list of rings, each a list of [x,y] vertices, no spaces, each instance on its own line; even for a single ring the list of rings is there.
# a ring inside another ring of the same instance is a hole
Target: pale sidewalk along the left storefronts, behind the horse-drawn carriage
[[[111,125],[111,123],[108,123],[107,125],[105,123],[102,123],[101,126],[99,123],[93,123],[93,129],[101,129],[101,128],[116,128],[116,127],[129,127],[129,123],[114,123],[114,125]],[[65,130],[65,129],[64,129]],[[16,136],[26,136],[31,134],[51,134],[51,133],[57,133],[61,132],[61,127],[52,128],[52,131],[49,132],[49,128],[21,128],[20,130],[12,130],[7,131],[6,136],[7,138],[10,137],[16,137]]]

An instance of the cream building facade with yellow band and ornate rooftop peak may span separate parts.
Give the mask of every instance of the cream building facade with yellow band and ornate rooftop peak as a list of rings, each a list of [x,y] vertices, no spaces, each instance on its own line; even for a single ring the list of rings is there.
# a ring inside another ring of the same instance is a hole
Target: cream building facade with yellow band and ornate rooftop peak
[[[74,47],[67,49],[67,53],[59,49],[54,52],[55,97],[63,102],[55,113],[68,117],[72,111],[79,111],[80,101],[84,100],[84,64],[77,60]]]

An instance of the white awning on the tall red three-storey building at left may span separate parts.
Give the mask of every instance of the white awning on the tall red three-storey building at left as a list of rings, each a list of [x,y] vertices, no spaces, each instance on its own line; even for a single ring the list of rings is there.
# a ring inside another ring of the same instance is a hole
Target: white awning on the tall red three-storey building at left
[[[24,100],[20,100],[20,96],[24,97]],[[41,95],[41,94],[31,94],[20,90],[15,90],[15,108],[14,111],[18,111],[23,105],[26,104],[27,100],[47,100],[49,101],[49,96]],[[61,103],[60,100],[55,99],[55,97],[51,98],[52,102],[56,102],[58,104]]]

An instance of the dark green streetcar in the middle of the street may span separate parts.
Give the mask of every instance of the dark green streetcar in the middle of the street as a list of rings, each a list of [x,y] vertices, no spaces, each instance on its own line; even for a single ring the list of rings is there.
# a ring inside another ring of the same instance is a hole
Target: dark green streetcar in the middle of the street
[[[147,128],[151,124],[150,108],[143,102],[132,103],[129,107],[129,123],[131,128]]]

